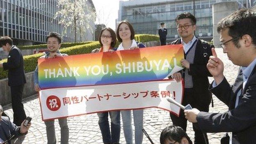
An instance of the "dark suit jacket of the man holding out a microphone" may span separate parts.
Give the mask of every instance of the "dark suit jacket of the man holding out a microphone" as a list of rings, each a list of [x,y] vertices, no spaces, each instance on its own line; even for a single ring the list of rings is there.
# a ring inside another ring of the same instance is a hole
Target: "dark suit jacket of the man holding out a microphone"
[[[210,91],[229,107],[225,113],[200,112],[197,121],[201,130],[206,132],[233,132],[240,144],[256,144],[256,66],[242,91],[239,104],[235,99],[242,88],[243,78],[240,70],[233,86],[226,78]]]

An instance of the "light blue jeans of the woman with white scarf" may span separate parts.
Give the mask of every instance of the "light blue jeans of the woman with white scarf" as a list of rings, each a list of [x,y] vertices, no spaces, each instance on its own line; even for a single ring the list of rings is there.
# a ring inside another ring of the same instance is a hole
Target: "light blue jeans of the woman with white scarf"
[[[123,133],[126,144],[133,144],[133,129],[131,110],[122,110]],[[135,144],[142,144],[143,140],[143,109],[133,110],[133,121],[135,126]]]

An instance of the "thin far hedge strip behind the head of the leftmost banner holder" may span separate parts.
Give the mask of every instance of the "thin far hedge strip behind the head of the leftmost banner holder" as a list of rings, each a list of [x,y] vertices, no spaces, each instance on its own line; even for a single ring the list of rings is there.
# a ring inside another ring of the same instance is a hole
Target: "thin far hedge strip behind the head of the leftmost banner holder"
[[[86,42],[81,42],[81,43],[62,43],[61,48],[67,48],[71,46],[78,46],[78,45],[83,45],[87,43],[91,43],[92,41],[86,41]],[[35,49],[35,48],[47,48],[46,44],[39,44],[39,45],[32,45],[32,46],[17,46],[21,50],[25,49]]]

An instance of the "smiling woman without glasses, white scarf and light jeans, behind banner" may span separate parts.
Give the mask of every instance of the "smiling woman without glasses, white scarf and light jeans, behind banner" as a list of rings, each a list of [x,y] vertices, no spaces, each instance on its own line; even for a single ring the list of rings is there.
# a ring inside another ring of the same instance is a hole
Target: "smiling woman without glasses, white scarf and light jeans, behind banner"
[[[135,32],[133,26],[128,21],[121,21],[117,27],[117,39],[121,44],[117,50],[129,50],[144,48],[144,44],[137,43],[134,40]],[[137,55],[132,55],[133,60],[139,59]],[[125,59],[122,59],[125,62]],[[121,111],[123,120],[123,133],[126,139],[126,144],[133,144],[133,129],[132,129],[132,118],[131,110]],[[143,140],[143,109],[133,110],[133,120],[135,125],[135,144],[142,144]]]

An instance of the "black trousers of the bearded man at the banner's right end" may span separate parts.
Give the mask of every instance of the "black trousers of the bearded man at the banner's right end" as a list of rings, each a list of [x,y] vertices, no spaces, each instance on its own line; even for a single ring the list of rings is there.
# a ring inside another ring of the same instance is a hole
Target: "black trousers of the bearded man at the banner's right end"
[[[200,111],[208,112],[209,111],[209,105],[205,104],[202,105],[201,103],[197,103],[197,96],[194,94],[194,90],[191,89],[185,89],[182,105],[190,104],[193,108],[197,108]],[[180,117],[177,117],[174,114],[171,114],[171,121],[174,125],[180,126],[183,128],[183,130],[187,130],[187,119],[185,118],[184,111],[181,110]],[[208,144],[208,137],[206,133],[203,133],[199,127],[197,126],[197,123],[193,123],[193,130],[194,130],[194,144]]]

